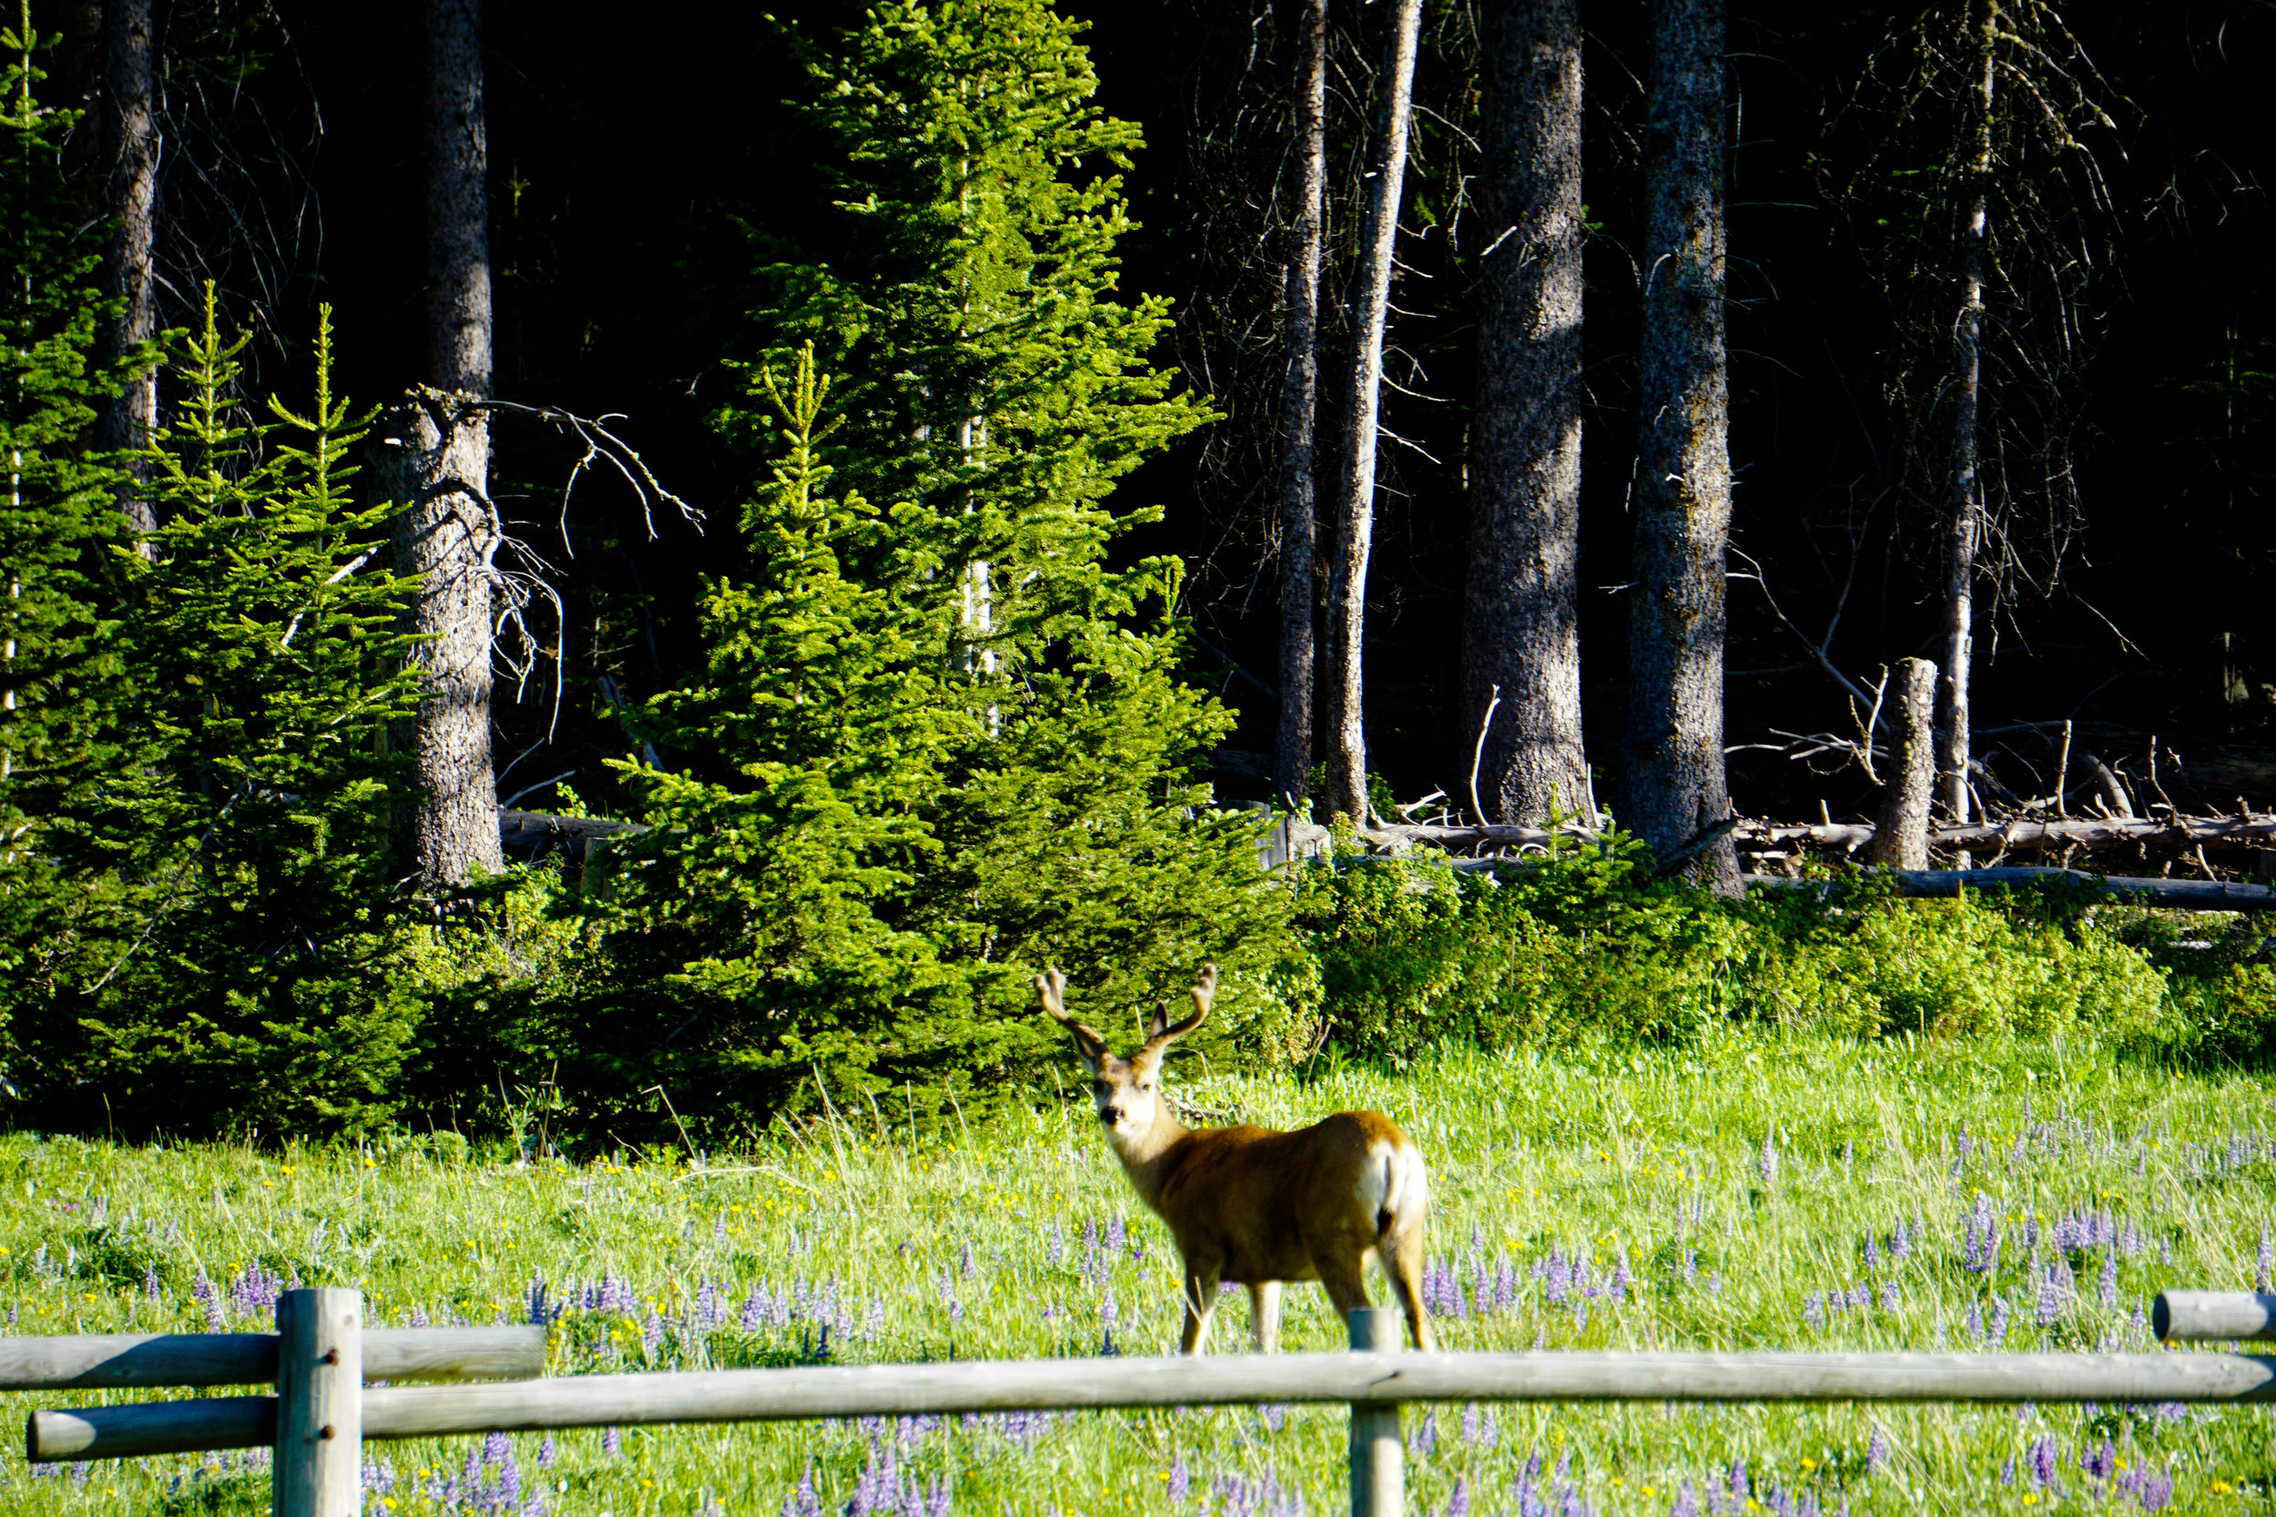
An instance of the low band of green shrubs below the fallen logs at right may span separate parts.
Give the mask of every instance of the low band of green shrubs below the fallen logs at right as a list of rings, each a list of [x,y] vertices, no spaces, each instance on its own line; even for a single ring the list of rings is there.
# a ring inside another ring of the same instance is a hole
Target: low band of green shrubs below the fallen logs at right
[[[1334,1046],[1395,1064],[1445,1042],[1668,1039],[1712,1019],[2151,1051],[2226,1017],[2242,1046],[2265,1005],[2242,971],[2178,1005],[2167,971],[2080,903],[1907,901],[1859,878],[1734,903],[1655,878],[1618,835],[1491,871],[1341,853],[1306,871],[1300,923]]]

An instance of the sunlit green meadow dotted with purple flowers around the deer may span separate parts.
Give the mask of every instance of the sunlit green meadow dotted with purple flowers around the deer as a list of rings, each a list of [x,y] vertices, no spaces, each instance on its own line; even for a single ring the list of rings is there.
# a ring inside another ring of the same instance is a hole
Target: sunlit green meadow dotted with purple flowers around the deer
[[[2149,1349],[2158,1290],[2271,1267],[2276,1112],[2251,1076],[1768,1035],[1450,1055],[1404,1078],[1186,1076],[1211,1112],[1368,1105],[1413,1133],[1450,1349]],[[881,1105],[701,1164],[521,1164],[448,1133],[282,1151],[9,1135],[0,1196],[7,1333],[255,1328],[303,1280],[360,1285],[389,1326],[535,1310],[553,1374],[1163,1353],[1177,1335],[1168,1233],[1088,1108],[917,1133]],[[1284,1344],[1341,1337],[1318,1287],[1290,1287]],[[1245,1342],[1236,1292],[1215,1349]],[[1409,1508],[2244,1512],[2276,1483],[2267,1417],[1409,1408]],[[1220,1408],[369,1444],[366,1510],[1338,1512],[1343,1431],[1341,1408]],[[266,1512],[266,1472],[257,1453],[61,1474],[7,1456],[0,1510]]]

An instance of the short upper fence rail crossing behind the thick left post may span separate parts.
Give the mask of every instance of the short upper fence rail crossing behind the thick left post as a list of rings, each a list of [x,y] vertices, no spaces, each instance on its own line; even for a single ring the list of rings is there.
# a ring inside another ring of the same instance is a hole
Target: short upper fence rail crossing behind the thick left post
[[[544,1328],[364,1333],[366,1381],[528,1381],[544,1371]],[[275,1385],[275,1333],[0,1337],[0,1390]]]

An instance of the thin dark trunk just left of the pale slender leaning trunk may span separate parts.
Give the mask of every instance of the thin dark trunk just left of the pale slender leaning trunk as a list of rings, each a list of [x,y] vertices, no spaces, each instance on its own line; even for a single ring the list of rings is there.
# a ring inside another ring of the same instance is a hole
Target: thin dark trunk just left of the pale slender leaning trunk
[[[1288,375],[1281,380],[1281,707],[1272,780],[1288,803],[1311,791],[1313,571],[1320,514],[1313,428],[1320,412],[1320,237],[1327,214],[1327,0],[1304,0],[1295,45],[1295,225],[1288,227]]]

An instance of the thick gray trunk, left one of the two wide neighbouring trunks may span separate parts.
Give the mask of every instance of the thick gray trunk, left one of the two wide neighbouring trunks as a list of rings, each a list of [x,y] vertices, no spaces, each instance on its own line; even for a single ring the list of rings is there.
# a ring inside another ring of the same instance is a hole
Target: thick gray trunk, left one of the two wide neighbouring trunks
[[[1463,746],[1482,821],[1589,805],[1580,730],[1580,0],[1486,9],[1479,202],[1495,239],[1477,305]],[[1500,687],[1502,703],[1493,707]]]

